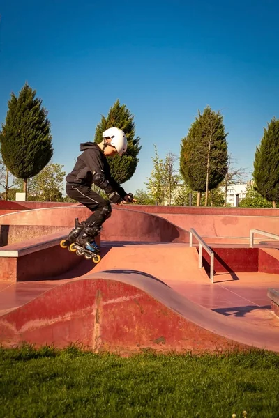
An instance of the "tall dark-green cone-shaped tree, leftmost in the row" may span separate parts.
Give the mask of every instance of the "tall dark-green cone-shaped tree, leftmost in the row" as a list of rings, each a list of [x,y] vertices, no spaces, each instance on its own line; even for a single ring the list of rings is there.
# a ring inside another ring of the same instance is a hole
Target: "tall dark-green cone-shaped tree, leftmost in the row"
[[[52,136],[47,111],[36,91],[26,83],[18,98],[14,93],[8,102],[6,122],[0,133],[1,154],[8,171],[24,180],[36,176],[50,161]]]

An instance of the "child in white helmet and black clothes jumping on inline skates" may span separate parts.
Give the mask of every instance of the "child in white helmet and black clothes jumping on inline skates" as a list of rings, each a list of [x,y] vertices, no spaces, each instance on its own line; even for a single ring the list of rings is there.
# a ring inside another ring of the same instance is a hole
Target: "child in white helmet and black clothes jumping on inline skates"
[[[85,221],[75,219],[75,227],[68,235],[68,241],[98,254],[100,248],[94,237],[100,232],[100,227],[112,213],[110,203],[129,203],[135,201],[133,194],[128,194],[110,174],[107,157],[117,153],[123,155],[127,149],[126,135],[118,127],[110,127],[103,132],[100,144],[86,142],[80,144],[82,154],[77,157],[73,171],[66,176],[66,193],[70,198],[82,203],[93,213]],[[108,199],[93,192],[93,183],[104,190]]]

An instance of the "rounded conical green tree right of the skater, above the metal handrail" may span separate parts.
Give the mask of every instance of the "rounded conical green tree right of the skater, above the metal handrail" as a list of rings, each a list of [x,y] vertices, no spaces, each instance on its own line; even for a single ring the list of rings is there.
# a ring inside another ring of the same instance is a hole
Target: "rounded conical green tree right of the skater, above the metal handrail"
[[[227,134],[223,116],[208,106],[191,125],[188,135],[181,141],[180,170],[191,189],[206,193],[204,205],[208,204],[209,190],[215,189],[227,173]]]

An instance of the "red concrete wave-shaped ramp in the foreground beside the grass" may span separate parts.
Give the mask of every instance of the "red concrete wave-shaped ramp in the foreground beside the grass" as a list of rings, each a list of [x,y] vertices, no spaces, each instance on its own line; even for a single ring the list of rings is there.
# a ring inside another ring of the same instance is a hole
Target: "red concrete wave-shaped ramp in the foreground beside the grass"
[[[34,286],[25,285],[25,293]],[[259,332],[254,325],[223,318],[149,274],[98,272],[56,281],[52,287],[47,283],[45,289],[38,295],[38,288],[33,288],[33,298],[26,304],[2,311],[4,346],[22,341],[60,348],[80,343],[90,350],[121,354],[146,348],[220,352],[236,346],[279,351],[278,332]]]

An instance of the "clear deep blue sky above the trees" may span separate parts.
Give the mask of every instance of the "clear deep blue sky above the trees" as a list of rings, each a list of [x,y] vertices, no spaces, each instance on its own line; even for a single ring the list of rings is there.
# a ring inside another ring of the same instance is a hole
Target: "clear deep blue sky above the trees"
[[[140,163],[181,138],[210,105],[224,116],[236,167],[252,171],[263,127],[279,118],[277,0],[0,0],[0,122],[24,83],[48,109],[53,162],[68,172],[80,142],[119,99],[135,116]]]

